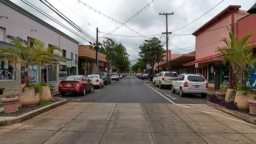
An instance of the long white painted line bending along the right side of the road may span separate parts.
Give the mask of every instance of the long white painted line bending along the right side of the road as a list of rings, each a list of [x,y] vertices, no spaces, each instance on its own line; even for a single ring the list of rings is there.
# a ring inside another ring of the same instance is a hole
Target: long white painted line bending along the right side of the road
[[[144,83],[145,83],[145,82],[144,82]],[[145,83],[145,85],[147,85],[147,84]],[[147,86],[150,87],[149,85],[147,85]],[[168,101],[170,101],[170,102],[173,103],[174,105],[183,106],[183,105],[179,105],[179,104],[174,103],[173,101],[171,101],[170,99],[168,99],[167,97],[165,97],[164,95],[162,95],[161,93],[159,93],[158,91],[156,91],[155,89],[153,89],[152,87],[150,87],[150,88],[151,88],[152,90],[154,90],[155,92],[157,92],[158,94],[160,94],[162,97],[166,98]],[[197,109],[194,109],[193,107],[189,107],[189,106],[183,106],[183,107],[186,107],[186,108],[189,108],[189,109],[193,109],[193,110],[197,110]],[[237,119],[233,119],[233,118],[228,118],[228,117],[222,116],[222,114],[211,113],[211,112],[202,111],[202,110],[197,110],[197,111],[200,111],[200,112],[203,112],[203,113],[207,113],[207,114],[216,115],[216,116],[223,117],[223,118],[227,118],[227,119],[231,119],[231,120],[233,120],[233,121],[245,123],[245,124],[247,124],[247,125],[256,126],[256,125],[254,125],[254,124],[248,123],[247,121],[239,121],[239,120],[237,120]]]

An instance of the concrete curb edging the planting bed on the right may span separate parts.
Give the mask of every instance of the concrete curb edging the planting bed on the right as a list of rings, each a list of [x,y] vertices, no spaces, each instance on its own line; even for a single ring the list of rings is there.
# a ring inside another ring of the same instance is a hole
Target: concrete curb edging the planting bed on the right
[[[234,111],[234,110],[226,109],[223,106],[217,105],[217,104],[209,102],[209,101],[207,101],[207,105],[256,125],[256,118],[254,118],[254,117],[251,117],[251,116],[246,115],[246,114],[239,113],[239,112]]]

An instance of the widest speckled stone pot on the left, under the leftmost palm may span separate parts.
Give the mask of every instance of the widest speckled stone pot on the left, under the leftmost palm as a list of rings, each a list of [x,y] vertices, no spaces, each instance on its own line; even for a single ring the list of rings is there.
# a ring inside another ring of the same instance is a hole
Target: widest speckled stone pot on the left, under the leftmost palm
[[[35,94],[34,87],[25,87],[24,92],[19,94],[19,102],[24,107],[31,107],[37,105],[39,102],[39,94]]]

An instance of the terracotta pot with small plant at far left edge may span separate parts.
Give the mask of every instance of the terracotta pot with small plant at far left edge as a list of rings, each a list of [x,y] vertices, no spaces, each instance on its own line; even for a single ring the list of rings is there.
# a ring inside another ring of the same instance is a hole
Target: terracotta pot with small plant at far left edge
[[[18,102],[19,97],[15,96],[14,98],[1,98],[1,102],[3,103],[3,108],[5,109],[5,113],[14,113],[18,111]]]

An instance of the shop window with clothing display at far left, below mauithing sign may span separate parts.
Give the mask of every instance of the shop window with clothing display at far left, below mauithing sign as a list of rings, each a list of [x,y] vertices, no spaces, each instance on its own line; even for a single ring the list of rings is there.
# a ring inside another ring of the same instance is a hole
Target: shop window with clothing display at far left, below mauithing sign
[[[11,61],[0,61],[0,81],[16,80],[15,71],[10,66]]]

